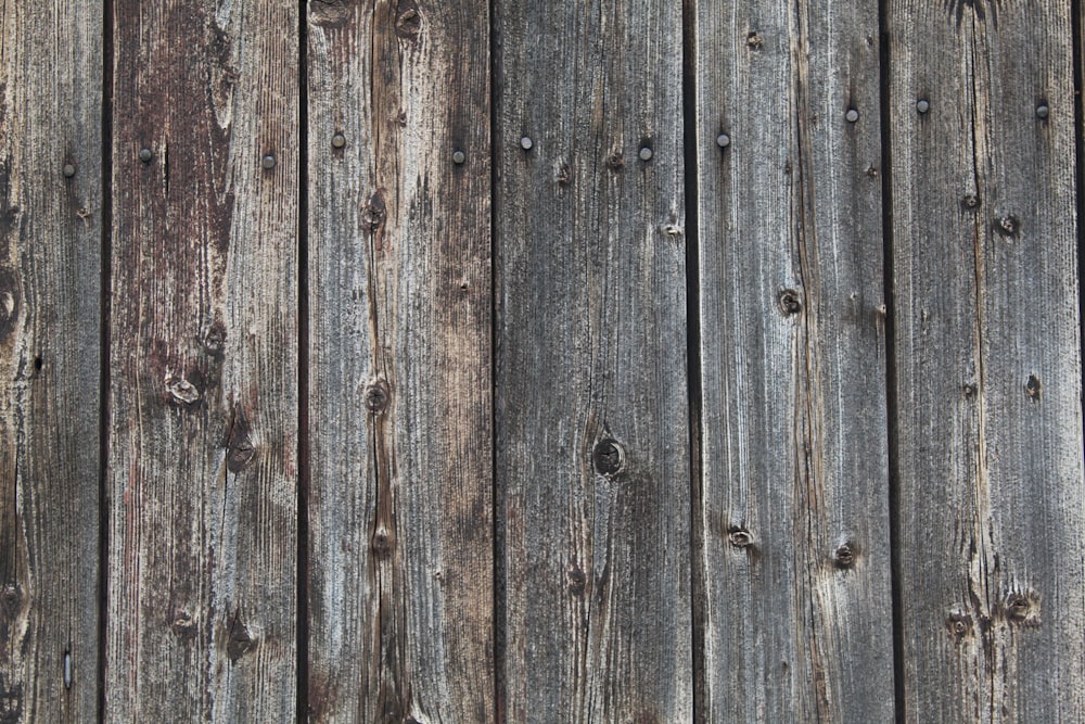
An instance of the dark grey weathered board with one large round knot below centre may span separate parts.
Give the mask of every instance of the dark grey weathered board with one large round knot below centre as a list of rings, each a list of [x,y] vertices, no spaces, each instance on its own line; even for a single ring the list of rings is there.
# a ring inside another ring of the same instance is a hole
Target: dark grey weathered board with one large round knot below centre
[[[681,7],[495,22],[505,714],[690,721]]]

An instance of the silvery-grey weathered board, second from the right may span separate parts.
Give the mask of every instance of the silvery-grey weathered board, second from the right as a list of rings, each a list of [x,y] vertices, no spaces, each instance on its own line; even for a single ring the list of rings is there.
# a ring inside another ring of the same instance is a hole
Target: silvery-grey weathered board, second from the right
[[[693,9],[700,713],[890,721],[877,3]]]

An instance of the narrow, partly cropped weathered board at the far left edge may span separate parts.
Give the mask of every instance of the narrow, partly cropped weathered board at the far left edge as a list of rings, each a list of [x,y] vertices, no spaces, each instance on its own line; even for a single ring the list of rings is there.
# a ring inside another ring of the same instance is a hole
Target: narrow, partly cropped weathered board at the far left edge
[[[102,7],[0,12],[0,721],[85,722],[98,694]]]

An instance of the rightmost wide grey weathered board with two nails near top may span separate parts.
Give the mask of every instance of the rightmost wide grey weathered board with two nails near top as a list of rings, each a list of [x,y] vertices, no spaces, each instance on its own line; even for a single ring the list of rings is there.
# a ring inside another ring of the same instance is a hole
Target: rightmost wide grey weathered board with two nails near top
[[[1083,721],[1070,3],[888,8],[905,719]]]

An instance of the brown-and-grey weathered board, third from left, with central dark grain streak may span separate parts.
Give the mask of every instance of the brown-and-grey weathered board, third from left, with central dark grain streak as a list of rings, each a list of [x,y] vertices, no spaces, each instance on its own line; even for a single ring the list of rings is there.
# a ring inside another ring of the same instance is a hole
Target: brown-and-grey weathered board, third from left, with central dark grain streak
[[[309,5],[312,721],[496,713],[487,15]]]

